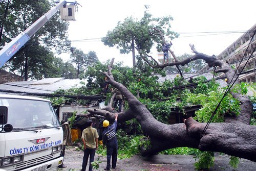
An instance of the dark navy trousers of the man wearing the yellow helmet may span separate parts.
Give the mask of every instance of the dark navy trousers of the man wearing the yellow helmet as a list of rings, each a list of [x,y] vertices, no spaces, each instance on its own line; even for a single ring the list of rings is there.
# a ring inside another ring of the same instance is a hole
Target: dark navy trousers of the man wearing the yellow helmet
[[[116,168],[117,162],[117,144],[106,145],[106,168],[110,169],[110,160],[112,157],[112,168]]]

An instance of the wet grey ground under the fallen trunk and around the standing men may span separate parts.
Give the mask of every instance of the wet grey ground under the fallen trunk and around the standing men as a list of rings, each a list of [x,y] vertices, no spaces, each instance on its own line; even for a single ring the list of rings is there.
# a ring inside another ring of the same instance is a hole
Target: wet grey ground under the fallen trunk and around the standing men
[[[56,168],[58,171],[79,171],[82,168],[82,151],[75,151],[75,148],[68,147],[65,151],[64,164],[66,168]],[[106,166],[106,157],[95,154],[95,160],[99,158],[102,161],[99,164],[99,170],[103,170]],[[88,162],[89,163],[89,162]],[[133,156],[130,159],[117,160],[117,166],[113,171],[190,171],[195,170],[195,159],[189,155],[155,155],[151,158],[141,156]],[[255,171],[256,162],[246,159],[240,159],[237,169],[233,169],[229,164],[227,156],[216,156],[215,164],[210,171]],[[89,166],[87,166],[86,171]],[[96,169],[94,169],[96,171]]]

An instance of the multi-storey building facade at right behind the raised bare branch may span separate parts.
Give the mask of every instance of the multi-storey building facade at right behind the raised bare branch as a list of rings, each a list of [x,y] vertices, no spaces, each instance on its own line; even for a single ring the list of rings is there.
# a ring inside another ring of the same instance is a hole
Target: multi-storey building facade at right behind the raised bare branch
[[[239,76],[239,82],[256,82],[256,35],[254,34],[255,30],[256,24],[246,33],[244,33],[240,38],[230,44],[220,55],[218,55],[219,59],[224,60],[228,64],[234,66],[237,69],[237,74],[241,72]],[[247,62],[248,59],[249,61]],[[211,68],[209,68],[209,66],[207,65],[199,72],[206,72],[210,69]]]

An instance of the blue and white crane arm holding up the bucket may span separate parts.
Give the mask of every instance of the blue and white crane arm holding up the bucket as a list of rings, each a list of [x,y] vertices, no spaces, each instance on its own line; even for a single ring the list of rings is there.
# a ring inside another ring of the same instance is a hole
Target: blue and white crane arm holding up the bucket
[[[16,36],[0,51],[0,68],[14,55],[29,39],[42,27],[56,12],[67,4],[67,1],[58,3],[55,7],[37,19],[28,29]]]

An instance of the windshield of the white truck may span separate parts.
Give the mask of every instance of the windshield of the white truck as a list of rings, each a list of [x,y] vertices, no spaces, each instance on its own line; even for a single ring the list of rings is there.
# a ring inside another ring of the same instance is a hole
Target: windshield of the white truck
[[[60,127],[50,102],[25,99],[0,99],[0,106],[8,108],[8,122],[13,131],[33,128]]]

